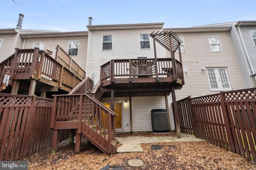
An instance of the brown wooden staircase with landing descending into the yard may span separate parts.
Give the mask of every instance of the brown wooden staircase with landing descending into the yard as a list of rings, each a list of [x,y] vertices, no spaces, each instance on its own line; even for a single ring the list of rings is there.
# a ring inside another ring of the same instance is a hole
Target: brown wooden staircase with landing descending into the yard
[[[85,82],[86,80],[81,82],[80,85],[85,84]],[[77,90],[72,90],[70,93],[76,92]],[[75,152],[80,152],[81,138],[84,136],[102,152],[107,154],[116,153],[116,113],[91,96],[88,94],[54,96],[51,119],[51,128],[54,129],[52,152],[58,150],[59,130],[73,129],[73,132],[76,131]],[[71,136],[73,138],[74,134]]]

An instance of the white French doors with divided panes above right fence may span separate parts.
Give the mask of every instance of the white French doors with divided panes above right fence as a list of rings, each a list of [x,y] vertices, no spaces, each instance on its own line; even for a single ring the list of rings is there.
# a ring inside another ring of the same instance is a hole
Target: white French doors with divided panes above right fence
[[[232,90],[227,68],[207,68],[210,90]]]

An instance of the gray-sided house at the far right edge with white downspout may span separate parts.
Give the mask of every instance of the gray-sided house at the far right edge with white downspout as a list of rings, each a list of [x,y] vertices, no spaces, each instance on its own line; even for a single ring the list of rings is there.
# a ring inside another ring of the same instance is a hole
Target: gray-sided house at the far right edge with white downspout
[[[256,86],[256,21],[236,21],[217,23],[198,27],[231,27],[230,39],[234,47],[244,85]]]

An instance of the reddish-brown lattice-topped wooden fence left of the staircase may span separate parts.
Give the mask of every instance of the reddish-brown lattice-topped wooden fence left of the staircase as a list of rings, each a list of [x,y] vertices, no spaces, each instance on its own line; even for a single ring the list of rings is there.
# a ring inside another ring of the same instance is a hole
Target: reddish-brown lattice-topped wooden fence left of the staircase
[[[0,161],[18,160],[52,145],[52,99],[0,94]],[[60,141],[68,131],[60,133]]]

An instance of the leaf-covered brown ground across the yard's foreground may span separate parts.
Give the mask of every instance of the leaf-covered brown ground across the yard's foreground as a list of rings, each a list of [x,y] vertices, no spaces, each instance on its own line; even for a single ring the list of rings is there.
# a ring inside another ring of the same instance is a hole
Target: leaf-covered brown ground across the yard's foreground
[[[175,133],[117,134],[118,137],[130,135]],[[207,142],[143,143],[141,146],[144,152],[107,155],[87,144],[76,154],[75,145],[64,141],[59,143],[57,153],[51,154],[49,147],[22,160],[28,161],[30,170],[256,170],[256,164]],[[131,167],[130,159],[140,159],[143,165]]]

